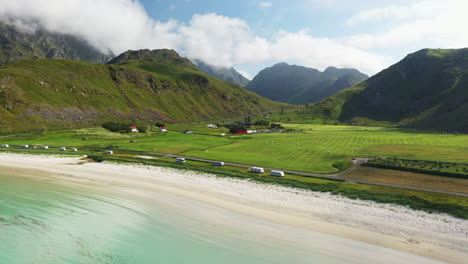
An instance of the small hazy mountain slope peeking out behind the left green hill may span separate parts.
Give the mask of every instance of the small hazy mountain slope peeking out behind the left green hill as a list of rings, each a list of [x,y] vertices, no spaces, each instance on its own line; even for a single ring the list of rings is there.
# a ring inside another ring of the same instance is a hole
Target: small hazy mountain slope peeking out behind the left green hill
[[[237,84],[240,87],[245,87],[249,83],[249,79],[245,78],[233,67],[214,66],[201,60],[193,60],[193,63],[197,65],[200,71],[223,81]]]

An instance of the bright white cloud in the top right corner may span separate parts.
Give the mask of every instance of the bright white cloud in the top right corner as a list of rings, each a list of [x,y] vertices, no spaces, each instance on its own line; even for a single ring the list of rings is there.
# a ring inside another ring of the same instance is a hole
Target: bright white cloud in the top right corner
[[[347,21],[349,26],[380,23],[388,30],[357,34],[351,45],[366,50],[462,48],[468,46],[468,1],[426,0],[411,5],[387,6],[362,11]]]

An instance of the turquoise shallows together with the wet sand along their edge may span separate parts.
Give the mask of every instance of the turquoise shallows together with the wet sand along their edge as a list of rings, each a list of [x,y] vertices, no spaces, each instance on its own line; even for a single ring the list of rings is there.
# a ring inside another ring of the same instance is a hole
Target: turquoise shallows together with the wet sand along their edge
[[[435,263],[167,193],[123,197],[0,174],[0,264]]]

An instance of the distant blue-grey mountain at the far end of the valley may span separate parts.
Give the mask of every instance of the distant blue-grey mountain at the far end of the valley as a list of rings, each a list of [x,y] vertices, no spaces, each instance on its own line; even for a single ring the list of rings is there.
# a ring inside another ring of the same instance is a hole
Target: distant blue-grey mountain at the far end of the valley
[[[274,101],[305,104],[318,102],[367,78],[356,69],[329,67],[320,72],[283,62],[262,70],[246,89]]]

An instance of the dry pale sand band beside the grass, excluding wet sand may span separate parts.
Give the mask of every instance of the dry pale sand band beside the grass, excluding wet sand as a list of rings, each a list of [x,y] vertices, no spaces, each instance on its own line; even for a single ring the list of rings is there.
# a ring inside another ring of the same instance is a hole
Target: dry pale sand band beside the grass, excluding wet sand
[[[150,202],[153,193],[168,193],[277,225],[448,263],[468,258],[467,220],[398,205],[169,168],[83,163],[79,158],[0,154],[0,170]]]

